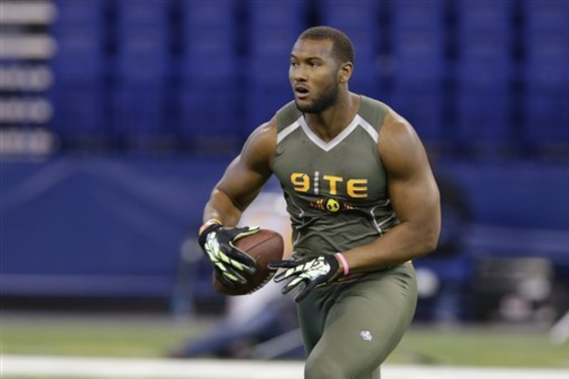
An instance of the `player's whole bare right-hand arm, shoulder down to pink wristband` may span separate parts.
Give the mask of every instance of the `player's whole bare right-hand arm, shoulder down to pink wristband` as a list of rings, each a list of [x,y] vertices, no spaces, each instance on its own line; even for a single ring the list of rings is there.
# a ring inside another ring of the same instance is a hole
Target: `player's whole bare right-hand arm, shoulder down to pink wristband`
[[[368,245],[344,252],[350,272],[383,269],[425,255],[437,246],[440,198],[427,154],[413,128],[395,112],[385,117],[378,150],[388,191],[401,223]]]

